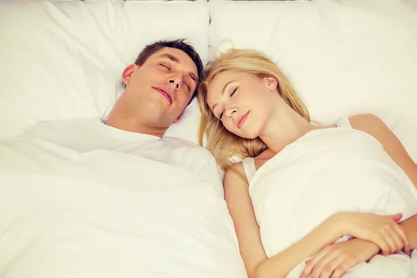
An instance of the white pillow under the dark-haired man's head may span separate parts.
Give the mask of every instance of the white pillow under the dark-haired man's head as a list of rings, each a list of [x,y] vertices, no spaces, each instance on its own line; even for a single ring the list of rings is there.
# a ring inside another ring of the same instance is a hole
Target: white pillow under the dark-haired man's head
[[[208,21],[204,0],[1,1],[0,138],[108,114],[122,70],[156,40],[186,38],[205,64]],[[170,135],[196,137],[181,126]]]

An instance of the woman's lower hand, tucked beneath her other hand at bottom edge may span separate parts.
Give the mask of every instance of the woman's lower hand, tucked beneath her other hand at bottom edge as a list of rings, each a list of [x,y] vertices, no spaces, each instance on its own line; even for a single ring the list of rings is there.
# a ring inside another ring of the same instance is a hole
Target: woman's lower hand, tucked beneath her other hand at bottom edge
[[[306,266],[300,278],[340,278],[358,263],[368,261],[379,252],[374,243],[359,238],[327,245],[311,259],[306,261]]]

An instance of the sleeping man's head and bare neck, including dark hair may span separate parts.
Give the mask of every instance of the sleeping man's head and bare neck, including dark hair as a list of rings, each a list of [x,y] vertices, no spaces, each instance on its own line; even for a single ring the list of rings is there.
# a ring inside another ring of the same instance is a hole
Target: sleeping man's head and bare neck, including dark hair
[[[162,137],[195,97],[202,72],[202,60],[183,40],[148,45],[124,70],[126,88],[106,124]]]

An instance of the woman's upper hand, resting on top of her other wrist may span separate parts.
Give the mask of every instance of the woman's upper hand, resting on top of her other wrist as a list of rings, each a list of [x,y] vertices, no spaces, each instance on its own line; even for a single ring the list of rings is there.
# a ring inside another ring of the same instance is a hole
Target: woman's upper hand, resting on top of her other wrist
[[[341,221],[339,232],[375,243],[382,254],[410,253],[409,240],[404,229],[397,223],[402,214],[377,215],[373,213],[336,213],[332,215]],[[331,218],[332,218],[331,217]],[[336,221],[337,221],[336,220]]]

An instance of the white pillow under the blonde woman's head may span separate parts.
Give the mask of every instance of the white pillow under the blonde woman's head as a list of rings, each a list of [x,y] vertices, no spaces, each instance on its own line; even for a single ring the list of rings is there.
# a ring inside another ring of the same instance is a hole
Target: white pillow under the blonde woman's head
[[[417,11],[403,1],[211,1],[209,44],[263,51],[313,122],[375,113],[417,161]],[[229,42],[227,41],[229,40]]]

